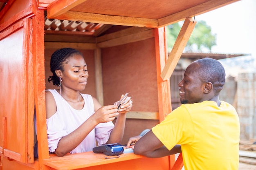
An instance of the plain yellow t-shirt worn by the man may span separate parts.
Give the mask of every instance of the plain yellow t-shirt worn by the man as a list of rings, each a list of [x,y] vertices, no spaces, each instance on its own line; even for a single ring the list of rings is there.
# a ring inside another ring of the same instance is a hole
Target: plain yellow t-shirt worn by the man
[[[226,102],[182,104],[152,131],[169,150],[181,145],[185,170],[238,170],[240,123]]]

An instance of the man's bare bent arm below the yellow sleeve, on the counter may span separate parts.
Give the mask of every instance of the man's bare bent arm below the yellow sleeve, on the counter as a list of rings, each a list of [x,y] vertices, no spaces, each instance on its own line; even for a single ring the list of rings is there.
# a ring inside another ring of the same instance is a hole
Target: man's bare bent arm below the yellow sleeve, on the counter
[[[180,153],[181,147],[180,145],[175,145],[171,150],[168,150],[150,130],[136,142],[133,152],[136,155],[158,158]]]

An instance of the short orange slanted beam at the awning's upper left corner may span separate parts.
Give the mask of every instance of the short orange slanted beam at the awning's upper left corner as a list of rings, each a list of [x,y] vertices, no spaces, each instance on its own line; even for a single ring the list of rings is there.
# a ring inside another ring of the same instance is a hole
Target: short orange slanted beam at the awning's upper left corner
[[[56,18],[87,0],[56,0],[47,7],[47,17]]]

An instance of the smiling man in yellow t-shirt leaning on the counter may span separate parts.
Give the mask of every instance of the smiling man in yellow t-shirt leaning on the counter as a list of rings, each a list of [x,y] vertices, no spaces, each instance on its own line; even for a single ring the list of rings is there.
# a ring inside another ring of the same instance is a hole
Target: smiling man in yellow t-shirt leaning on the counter
[[[135,142],[134,153],[164,157],[182,152],[185,170],[238,170],[240,124],[236,110],[220,101],[225,70],[218,60],[191,63],[178,84],[181,106]]]

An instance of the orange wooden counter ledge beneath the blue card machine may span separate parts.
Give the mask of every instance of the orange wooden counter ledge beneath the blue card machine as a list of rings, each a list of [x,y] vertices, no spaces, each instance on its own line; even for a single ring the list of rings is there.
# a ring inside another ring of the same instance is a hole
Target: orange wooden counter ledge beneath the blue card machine
[[[147,158],[134,153],[121,154],[119,158],[106,159],[103,153],[84,152],[64,157],[44,159],[43,164],[56,170],[169,170],[169,157]],[[115,156],[112,156],[115,157]]]

